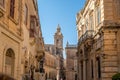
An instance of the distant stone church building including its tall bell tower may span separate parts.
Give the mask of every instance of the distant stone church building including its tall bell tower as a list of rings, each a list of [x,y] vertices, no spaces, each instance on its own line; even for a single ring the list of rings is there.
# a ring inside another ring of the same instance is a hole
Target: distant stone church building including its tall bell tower
[[[54,35],[54,44],[45,44],[45,61],[46,77],[53,80],[63,79],[63,35],[59,25]]]

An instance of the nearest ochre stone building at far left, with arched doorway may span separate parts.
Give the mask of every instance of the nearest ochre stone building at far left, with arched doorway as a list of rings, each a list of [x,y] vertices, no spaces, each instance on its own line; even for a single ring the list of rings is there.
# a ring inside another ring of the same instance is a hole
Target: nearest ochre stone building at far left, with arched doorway
[[[21,78],[21,26],[19,0],[0,0],[0,73]],[[12,6],[13,4],[13,6]],[[13,8],[13,7],[16,8]],[[16,15],[15,15],[16,14]]]

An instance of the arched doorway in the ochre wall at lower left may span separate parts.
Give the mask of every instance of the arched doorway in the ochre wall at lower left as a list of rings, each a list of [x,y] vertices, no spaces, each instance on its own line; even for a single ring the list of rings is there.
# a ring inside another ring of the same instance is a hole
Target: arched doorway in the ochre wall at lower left
[[[5,74],[14,77],[14,62],[15,54],[14,51],[9,48],[5,54]]]

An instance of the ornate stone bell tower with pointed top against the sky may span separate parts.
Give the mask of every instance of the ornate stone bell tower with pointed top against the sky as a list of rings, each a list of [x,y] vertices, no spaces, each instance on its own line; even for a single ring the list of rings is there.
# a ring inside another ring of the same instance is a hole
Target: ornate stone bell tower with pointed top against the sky
[[[57,26],[57,31],[54,35],[54,45],[56,47],[56,54],[63,57],[63,35],[61,33],[60,25]]]

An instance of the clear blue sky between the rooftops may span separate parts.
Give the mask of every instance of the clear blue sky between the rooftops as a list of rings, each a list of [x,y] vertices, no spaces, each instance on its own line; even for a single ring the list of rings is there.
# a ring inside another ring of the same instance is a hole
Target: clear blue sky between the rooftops
[[[54,33],[57,25],[61,27],[66,46],[77,44],[76,14],[79,12],[86,0],[38,0],[38,9],[42,35],[45,44],[54,43]]]

